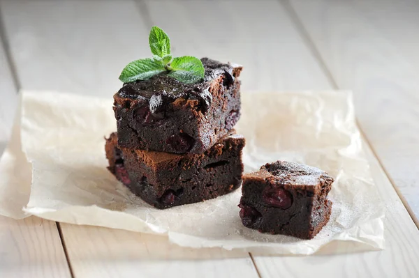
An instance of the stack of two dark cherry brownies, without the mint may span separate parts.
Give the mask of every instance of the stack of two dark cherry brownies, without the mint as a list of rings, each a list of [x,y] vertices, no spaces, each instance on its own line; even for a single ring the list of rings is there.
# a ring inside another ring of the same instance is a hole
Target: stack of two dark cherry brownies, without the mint
[[[201,61],[205,79],[198,84],[156,75],[114,95],[108,169],[156,208],[212,199],[242,183],[244,138],[233,130],[242,66]]]

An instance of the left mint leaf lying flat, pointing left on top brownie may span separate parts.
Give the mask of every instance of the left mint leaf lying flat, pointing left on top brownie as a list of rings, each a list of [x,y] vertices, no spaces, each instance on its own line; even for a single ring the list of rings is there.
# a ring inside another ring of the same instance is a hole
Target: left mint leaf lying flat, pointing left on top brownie
[[[128,63],[124,70],[122,70],[119,80],[124,83],[145,80],[164,71],[166,69],[159,61],[148,58],[141,59]]]

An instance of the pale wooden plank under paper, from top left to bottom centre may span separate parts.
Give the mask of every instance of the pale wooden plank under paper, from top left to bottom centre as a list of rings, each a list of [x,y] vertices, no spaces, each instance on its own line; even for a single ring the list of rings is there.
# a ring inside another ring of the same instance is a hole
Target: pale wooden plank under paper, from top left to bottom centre
[[[23,88],[110,98],[119,70],[149,56],[149,27],[132,1],[13,1],[1,10]],[[248,253],[184,249],[100,227],[61,224],[61,231],[75,277],[258,277]]]

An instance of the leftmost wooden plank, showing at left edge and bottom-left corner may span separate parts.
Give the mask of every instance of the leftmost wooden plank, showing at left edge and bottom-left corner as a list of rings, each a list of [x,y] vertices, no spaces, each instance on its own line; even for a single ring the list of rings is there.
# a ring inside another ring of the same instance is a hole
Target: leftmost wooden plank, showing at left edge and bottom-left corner
[[[0,95],[1,155],[17,106],[17,88],[1,43]],[[0,277],[71,277],[55,222],[0,216],[0,246]]]

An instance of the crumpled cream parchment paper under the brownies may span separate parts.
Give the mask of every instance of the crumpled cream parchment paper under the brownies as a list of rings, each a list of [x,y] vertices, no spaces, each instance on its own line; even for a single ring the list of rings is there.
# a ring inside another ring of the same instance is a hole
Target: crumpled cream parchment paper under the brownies
[[[242,118],[236,130],[247,139],[245,171],[289,160],[319,167],[335,178],[329,194],[333,201],[330,222],[313,240],[244,228],[237,208],[240,190],[167,210],[152,208],[131,194],[106,169],[103,137],[116,130],[112,99],[25,92],[21,134],[18,125],[0,161],[0,192],[7,199],[10,180],[20,178],[19,182],[27,183],[24,175],[16,173],[32,171],[31,189],[24,187],[30,192],[29,203],[27,195],[9,192],[20,206],[26,205],[24,211],[30,215],[165,233],[171,242],[185,247],[242,248],[263,254],[312,254],[333,240],[341,241],[341,249],[354,242],[363,249],[384,245],[384,209],[369,173],[348,92],[242,95]],[[20,163],[19,135],[30,163]],[[8,215],[14,212],[21,217],[17,207],[9,207]]]

